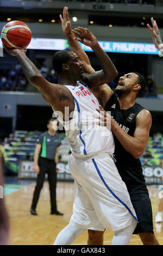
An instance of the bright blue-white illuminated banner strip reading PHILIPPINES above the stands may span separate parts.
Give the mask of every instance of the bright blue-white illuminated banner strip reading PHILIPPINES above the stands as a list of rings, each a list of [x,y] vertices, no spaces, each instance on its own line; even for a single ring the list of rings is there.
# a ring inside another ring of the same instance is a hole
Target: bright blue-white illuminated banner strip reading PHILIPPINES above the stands
[[[139,53],[139,54],[159,54],[154,44],[145,42],[117,42],[117,41],[98,41],[105,52],[113,53]],[[92,51],[89,46],[85,46],[79,42],[84,51]],[[2,48],[2,41],[0,40]],[[66,39],[52,38],[32,38],[28,49],[35,50],[65,50],[68,48]]]

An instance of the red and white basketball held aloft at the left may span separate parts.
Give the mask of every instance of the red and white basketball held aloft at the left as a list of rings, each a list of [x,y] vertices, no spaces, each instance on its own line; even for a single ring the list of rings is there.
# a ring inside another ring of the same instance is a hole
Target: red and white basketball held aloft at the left
[[[1,39],[7,48],[26,48],[32,38],[28,25],[22,21],[10,21],[2,29]]]

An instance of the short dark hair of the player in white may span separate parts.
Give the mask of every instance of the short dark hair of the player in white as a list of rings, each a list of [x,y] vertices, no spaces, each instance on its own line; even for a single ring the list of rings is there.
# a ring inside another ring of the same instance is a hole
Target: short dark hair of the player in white
[[[62,64],[68,63],[68,60],[70,59],[68,52],[70,52],[70,50],[58,51],[53,56],[52,65],[58,75],[62,70]]]

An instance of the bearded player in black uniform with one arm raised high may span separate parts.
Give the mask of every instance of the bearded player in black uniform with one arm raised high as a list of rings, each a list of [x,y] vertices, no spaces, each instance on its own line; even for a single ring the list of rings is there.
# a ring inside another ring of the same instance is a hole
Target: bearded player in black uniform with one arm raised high
[[[70,50],[78,54],[86,72],[95,72],[86,53],[74,40],[74,31],[71,30],[68,8],[66,7],[64,8],[64,19],[61,19],[61,23]],[[82,39],[80,27],[76,31],[79,33],[78,37]],[[131,202],[139,220],[134,234],[139,234],[143,245],[159,245],[153,233],[151,200],[149,199],[139,160],[146,149],[152,124],[149,111],[135,102],[136,97],[139,96],[144,87],[144,78],[136,72],[131,72],[120,77],[115,93],[107,84],[91,90],[101,105],[105,107],[105,110],[111,111],[113,117],[110,120],[111,130],[115,138],[115,164],[123,181],[126,182]],[[103,111],[103,108],[101,110]],[[105,113],[104,118],[106,119],[106,112],[102,113]],[[103,244],[103,231],[88,231],[88,245]]]

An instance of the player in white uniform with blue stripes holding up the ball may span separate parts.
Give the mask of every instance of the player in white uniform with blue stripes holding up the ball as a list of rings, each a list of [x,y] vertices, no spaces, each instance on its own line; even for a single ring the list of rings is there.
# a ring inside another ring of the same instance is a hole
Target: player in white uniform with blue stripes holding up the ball
[[[112,133],[107,132],[106,127],[99,127],[93,117],[99,102],[90,90],[113,80],[117,71],[95,36],[88,29],[83,33],[82,42],[96,53],[102,70],[83,74],[83,64],[77,54],[59,51],[53,57],[59,84],[43,78],[26,56],[26,50],[5,49],[18,58],[28,81],[52,106],[71,144],[69,168],[75,181],[73,215],[54,245],[70,245],[86,229],[103,231],[110,227],[115,231],[112,245],[128,245],[137,218],[126,185],[111,158],[114,153]],[[70,115],[66,114],[66,107]]]

